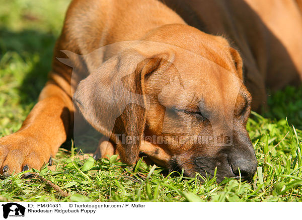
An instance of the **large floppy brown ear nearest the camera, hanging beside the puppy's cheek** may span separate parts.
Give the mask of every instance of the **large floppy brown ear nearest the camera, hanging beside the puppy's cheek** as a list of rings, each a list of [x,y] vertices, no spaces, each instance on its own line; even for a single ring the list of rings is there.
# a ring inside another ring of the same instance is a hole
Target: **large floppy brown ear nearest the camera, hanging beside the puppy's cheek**
[[[82,80],[73,96],[84,118],[116,144],[126,163],[134,163],[139,154],[149,105],[145,78],[163,61],[162,56],[146,58],[135,50],[122,52]]]

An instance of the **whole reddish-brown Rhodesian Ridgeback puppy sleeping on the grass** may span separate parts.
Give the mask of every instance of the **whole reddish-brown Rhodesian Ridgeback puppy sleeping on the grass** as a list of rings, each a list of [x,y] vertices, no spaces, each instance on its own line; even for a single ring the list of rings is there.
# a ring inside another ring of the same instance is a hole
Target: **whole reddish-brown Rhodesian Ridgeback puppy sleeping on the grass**
[[[191,177],[254,176],[246,123],[266,88],[302,77],[301,2],[163,2],[70,4],[38,103],[0,139],[1,174],[40,169],[88,122],[103,135],[95,158],[144,153]]]

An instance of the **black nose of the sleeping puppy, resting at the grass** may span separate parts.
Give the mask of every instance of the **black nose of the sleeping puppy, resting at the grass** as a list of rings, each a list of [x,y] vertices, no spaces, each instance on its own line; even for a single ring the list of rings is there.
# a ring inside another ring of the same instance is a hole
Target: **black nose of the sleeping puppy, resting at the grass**
[[[257,170],[257,160],[237,157],[232,159],[231,167],[236,176],[240,176],[241,174],[243,179],[251,180]]]

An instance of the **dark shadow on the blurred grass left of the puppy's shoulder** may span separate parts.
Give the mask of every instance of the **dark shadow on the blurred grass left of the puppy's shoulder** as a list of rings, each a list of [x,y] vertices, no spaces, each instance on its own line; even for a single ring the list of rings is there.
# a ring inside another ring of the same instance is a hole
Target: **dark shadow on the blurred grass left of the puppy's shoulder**
[[[16,52],[25,61],[33,63],[19,87],[22,106],[35,103],[47,80],[56,36],[35,30],[12,32],[0,28],[0,57],[6,52]]]

